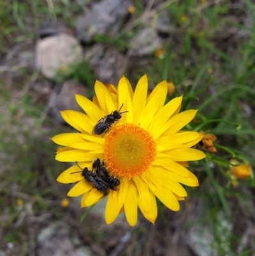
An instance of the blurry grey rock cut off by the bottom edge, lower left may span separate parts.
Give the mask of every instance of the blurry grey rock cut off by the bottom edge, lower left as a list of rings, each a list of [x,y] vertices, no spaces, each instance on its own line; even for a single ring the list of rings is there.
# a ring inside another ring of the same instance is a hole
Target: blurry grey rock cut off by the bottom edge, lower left
[[[72,239],[77,237],[74,230],[63,222],[57,222],[41,230],[38,234],[38,256],[91,256],[87,246],[76,247]],[[76,238],[78,239],[78,238]]]

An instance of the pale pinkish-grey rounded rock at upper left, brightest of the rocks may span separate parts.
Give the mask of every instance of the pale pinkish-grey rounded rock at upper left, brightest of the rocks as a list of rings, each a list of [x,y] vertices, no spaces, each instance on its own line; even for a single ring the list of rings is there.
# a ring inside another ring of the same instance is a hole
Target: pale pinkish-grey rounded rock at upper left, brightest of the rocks
[[[57,70],[82,61],[82,47],[69,34],[57,34],[36,43],[36,68],[45,77],[56,77]]]

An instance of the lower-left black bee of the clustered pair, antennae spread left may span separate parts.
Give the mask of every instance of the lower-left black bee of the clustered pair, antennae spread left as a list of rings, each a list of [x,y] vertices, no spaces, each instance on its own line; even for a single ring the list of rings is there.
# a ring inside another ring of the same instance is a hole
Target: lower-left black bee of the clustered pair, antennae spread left
[[[78,163],[76,162],[78,165]],[[89,184],[93,186],[93,188],[96,188],[99,192],[103,194],[107,194],[109,192],[109,186],[105,182],[98,179],[97,174],[95,172],[92,172],[91,170],[87,169],[85,167],[82,169],[79,165],[78,167],[82,170],[82,176],[84,177],[85,181],[87,181]],[[71,172],[70,174],[75,174],[77,172]]]

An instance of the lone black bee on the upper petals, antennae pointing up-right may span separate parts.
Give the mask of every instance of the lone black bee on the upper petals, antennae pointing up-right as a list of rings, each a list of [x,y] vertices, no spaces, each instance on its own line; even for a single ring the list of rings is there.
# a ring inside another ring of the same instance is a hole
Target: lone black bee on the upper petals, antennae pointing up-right
[[[121,118],[121,114],[128,112],[128,111],[120,112],[123,105],[124,104],[121,105],[119,111],[114,110],[111,114],[108,114],[107,116],[101,118],[98,121],[98,123],[96,123],[96,125],[94,126],[92,130],[92,134],[100,135],[102,133],[108,132],[111,125]]]

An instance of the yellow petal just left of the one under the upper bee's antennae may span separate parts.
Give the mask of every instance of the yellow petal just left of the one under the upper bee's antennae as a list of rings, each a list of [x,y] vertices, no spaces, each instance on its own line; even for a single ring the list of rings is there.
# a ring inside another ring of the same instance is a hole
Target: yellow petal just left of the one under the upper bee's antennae
[[[115,102],[112,94],[110,91],[108,91],[104,84],[96,81],[95,92],[100,108],[106,113],[106,115],[112,113],[114,110],[117,110],[117,102]]]

